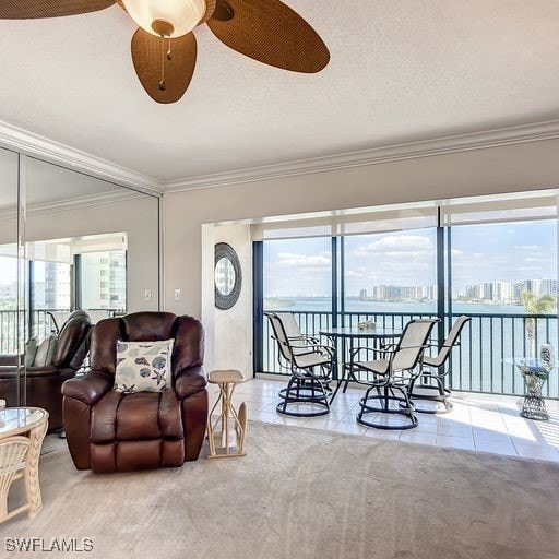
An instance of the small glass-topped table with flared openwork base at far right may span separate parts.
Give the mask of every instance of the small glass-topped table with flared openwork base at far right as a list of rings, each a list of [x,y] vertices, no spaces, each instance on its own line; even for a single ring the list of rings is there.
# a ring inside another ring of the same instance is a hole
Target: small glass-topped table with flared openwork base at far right
[[[526,394],[520,415],[526,419],[547,421],[546,403],[542,395],[542,388],[549,379],[549,373],[557,367],[558,361],[545,361],[535,357],[511,357],[502,360],[506,365],[514,365],[524,379]]]

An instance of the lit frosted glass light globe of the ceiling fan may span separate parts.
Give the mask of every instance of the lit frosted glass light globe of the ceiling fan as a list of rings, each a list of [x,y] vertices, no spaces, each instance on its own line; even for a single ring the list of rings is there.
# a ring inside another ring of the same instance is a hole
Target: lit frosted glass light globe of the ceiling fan
[[[127,12],[140,27],[152,35],[156,21],[168,22],[173,33],[169,38],[181,37],[190,33],[201,21],[206,11],[205,0],[122,0]],[[155,26],[157,29],[159,26]]]

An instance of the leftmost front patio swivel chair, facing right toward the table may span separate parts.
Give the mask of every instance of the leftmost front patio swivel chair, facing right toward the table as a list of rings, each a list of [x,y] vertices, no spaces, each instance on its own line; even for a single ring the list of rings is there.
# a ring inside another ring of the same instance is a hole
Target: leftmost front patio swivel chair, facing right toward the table
[[[294,417],[328,414],[334,349],[316,342],[304,345],[301,340],[289,340],[282,313],[266,312],[266,317],[274,332],[272,338],[277,342],[280,355],[292,373],[287,388],[280,392],[282,402],[276,411]],[[300,411],[299,404],[306,404],[305,411]]]

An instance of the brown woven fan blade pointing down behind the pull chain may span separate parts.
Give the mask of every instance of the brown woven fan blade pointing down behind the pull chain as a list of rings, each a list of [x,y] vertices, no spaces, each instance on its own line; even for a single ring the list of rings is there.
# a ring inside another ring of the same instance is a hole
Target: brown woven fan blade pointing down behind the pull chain
[[[194,74],[197,52],[193,33],[176,39],[162,39],[139,28],[132,37],[135,73],[150,97],[157,103],[176,103],[185,95]]]

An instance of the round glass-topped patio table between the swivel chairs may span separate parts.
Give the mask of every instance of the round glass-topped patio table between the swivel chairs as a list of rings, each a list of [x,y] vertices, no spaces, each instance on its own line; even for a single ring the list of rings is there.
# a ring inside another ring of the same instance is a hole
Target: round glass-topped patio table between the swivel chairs
[[[331,402],[334,400],[334,397],[337,394],[337,391],[340,390],[340,386],[345,382],[344,390],[345,392],[347,390],[347,386],[349,384],[349,381],[353,380],[355,382],[359,382],[358,379],[355,378],[353,373],[353,367],[352,367],[352,355],[355,348],[355,341],[356,340],[372,340],[373,341],[373,347],[372,349],[379,350],[380,342],[382,341],[389,341],[389,340],[397,340],[399,337],[402,337],[402,330],[396,330],[392,328],[376,328],[374,330],[359,330],[355,326],[338,326],[338,328],[326,328],[319,330],[319,334],[322,336],[326,336],[334,343],[334,348],[336,350],[336,357],[335,357],[335,364],[336,364],[336,370],[335,376],[340,377],[337,374],[337,341],[348,341],[349,347],[346,352],[345,348],[342,349],[342,376],[337,379],[337,385],[332,394]],[[345,345],[345,344],[344,344]]]

